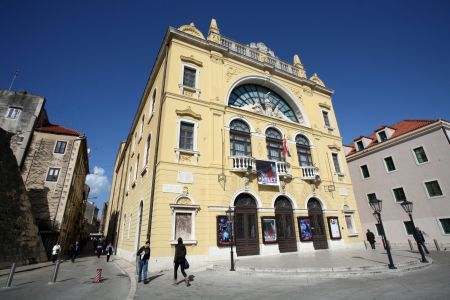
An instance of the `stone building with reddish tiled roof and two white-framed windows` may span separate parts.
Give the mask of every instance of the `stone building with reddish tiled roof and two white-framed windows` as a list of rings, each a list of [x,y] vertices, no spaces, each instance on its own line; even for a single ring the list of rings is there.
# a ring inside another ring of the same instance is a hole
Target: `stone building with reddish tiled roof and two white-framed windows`
[[[58,239],[62,253],[80,235],[85,180],[89,172],[86,137],[49,122],[35,128],[22,177],[47,252]]]

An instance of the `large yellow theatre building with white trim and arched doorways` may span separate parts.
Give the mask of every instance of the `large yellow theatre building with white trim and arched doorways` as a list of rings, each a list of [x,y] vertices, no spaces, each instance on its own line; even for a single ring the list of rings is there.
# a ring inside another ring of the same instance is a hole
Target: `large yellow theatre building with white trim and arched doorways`
[[[117,254],[151,240],[155,268],[184,239],[191,261],[362,247],[331,95],[263,43],[169,28],[125,142],[106,220]]]

